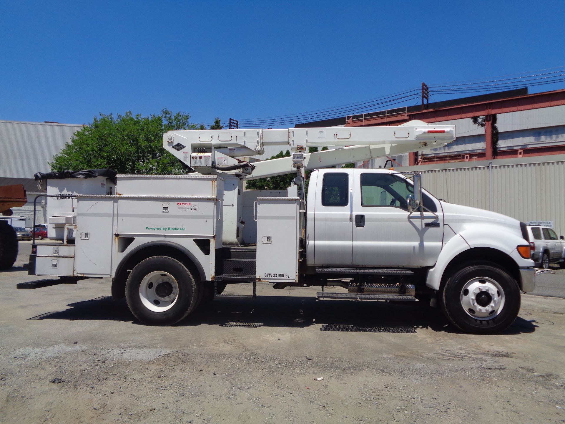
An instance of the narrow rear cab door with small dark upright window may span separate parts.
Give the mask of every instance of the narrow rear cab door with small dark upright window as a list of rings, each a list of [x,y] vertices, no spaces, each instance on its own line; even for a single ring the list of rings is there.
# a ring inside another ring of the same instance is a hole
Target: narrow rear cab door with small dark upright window
[[[314,214],[314,263],[351,266],[351,170],[319,170]],[[310,264],[310,262],[308,262]]]

